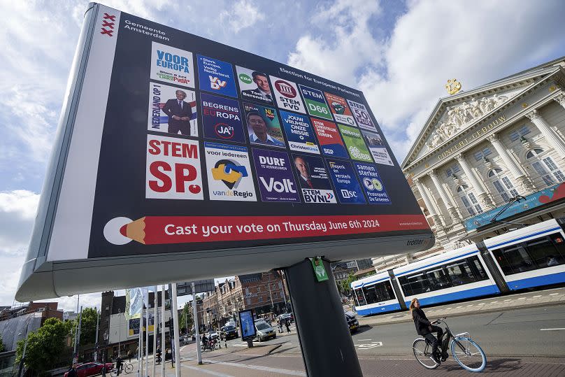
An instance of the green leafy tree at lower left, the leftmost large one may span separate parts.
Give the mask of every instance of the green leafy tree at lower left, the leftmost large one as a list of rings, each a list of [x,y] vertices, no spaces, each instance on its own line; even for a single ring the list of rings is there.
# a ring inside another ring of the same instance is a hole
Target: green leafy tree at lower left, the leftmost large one
[[[27,334],[25,367],[38,374],[52,369],[63,353],[69,330],[69,322],[62,322],[58,318],[48,318],[37,331]],[[17,364],[22,360],[25,342],[25,339],[17,342],[15,360]]]

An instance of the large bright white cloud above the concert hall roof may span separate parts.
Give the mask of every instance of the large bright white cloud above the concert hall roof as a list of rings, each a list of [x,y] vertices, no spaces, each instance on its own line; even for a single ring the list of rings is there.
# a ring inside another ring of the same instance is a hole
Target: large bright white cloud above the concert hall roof
[[[331,39],[303,36],[288,62],[359,87],[399,160],[447,96],[448,78],[469,90],[558,57],[565,47],[565,3],[558,0],[410,1],[384,41],[373,36],[382,34],[374,30],[378,7],[362,10],[336,1],[324,14],[328,23],[340,15]]]

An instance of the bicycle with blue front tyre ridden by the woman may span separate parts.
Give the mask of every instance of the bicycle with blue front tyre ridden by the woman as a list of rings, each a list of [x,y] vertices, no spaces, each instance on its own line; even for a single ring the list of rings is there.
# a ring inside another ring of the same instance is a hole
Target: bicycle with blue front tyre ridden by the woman
[[[471,339],[468,332],[453,335],[445,317],[431,322],[432,325],[439,325],[441,322],[445,325],[442,343],[448,344],[451,355],[455,361],[464,369],[472,372],[480,372],[487,365],[487,357],[480,346]],[[447,338],[445,338],[447,336]],[[447,339],[447,340],[446,340]],[[442,344],[438,345],[442,348]],[[422,364],[424,368],[436,369],[439,364],[431,357],[431,343],[424,338],[418,338],[412,343],[412,349],[416,360]]]

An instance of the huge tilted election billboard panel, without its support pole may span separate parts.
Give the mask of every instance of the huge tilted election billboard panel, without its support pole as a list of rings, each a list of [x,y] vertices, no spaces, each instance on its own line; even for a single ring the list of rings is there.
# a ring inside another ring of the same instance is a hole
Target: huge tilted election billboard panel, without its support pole
[[[97,3],[71,75],[19,300],[434,243],[358,90]]]

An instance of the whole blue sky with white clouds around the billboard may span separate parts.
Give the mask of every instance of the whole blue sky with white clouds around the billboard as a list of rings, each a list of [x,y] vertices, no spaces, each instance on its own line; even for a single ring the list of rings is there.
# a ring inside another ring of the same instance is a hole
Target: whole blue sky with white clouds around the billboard
[[[0,306],[13,304],[87,3],[0,0]],[[362,90],[399,162],[448,79],[471,90],[565,55],[562,0],[101,3]],[[76,296],[57,301],[76,309]]]

